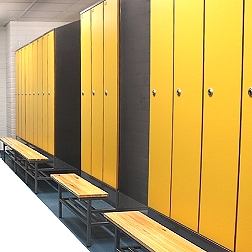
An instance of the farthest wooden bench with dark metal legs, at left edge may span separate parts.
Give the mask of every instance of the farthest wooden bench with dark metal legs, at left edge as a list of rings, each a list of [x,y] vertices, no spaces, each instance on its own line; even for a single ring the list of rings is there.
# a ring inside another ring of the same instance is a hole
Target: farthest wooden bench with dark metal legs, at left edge
[[[8,155],[14,162],[15,173],[17,165],[25,171],[26,184],[29,174],[35,181],[35,193],[37,193],[38,180],[50,179],[45,172],[52,170],[52,167],[39,167],[39,164],[48,162],[49,159],[15,138],[1,137],[0,141],[3,143],[3,160],[5,161],[5,155]]]

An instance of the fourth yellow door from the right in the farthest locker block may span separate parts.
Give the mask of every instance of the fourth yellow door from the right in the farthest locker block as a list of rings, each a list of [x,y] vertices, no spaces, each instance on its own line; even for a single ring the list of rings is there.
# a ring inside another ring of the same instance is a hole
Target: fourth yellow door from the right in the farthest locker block
[[[38,145],[38,41],[32,43],[33,144]]]

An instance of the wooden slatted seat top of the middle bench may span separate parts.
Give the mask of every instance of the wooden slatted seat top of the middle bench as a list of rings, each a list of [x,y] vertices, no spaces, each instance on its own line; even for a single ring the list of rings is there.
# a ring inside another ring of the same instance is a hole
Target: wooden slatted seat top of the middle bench
[[[66,174],[51,174],[54,179],[61,186],[72,192],[78,198],[97,198],[107,197],[108,193],[99,187],[89,183],[87,180],[81,178],[75,173]]]

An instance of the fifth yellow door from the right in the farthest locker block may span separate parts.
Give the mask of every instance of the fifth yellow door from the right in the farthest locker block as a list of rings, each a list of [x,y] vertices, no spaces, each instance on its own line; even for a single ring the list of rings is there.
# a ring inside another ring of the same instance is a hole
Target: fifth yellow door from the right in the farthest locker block
[[[28,109],[29,109],[29,142],[33,144],[33,121],[34,121],[34,115],[33,115],[33,110],[34,110],[34,106],[33,106],[33,95],[32,95],[32,91],[33,91],[33,51],[32,51],[32,44],[28,45],[28,51],[29,51],[29,61],[28,61],[28,79],[29,79],[29,89],[28,89],[28,93],[27,93],[27,98],[28,98]]]

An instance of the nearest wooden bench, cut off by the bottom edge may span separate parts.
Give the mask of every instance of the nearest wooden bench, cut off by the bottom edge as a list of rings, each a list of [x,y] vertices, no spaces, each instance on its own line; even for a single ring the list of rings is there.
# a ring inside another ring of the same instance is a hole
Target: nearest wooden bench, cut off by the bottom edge
[[[104,216],[115,226],[115,251],[136,251],[134,246],[120,246],[120,231],[153,252],[204,251],[139,211],[110,212]]]

